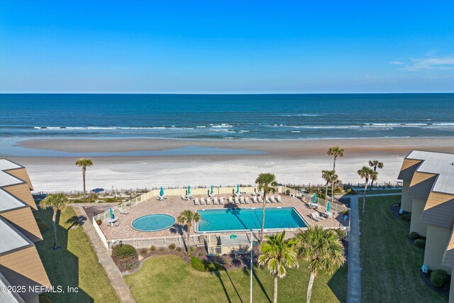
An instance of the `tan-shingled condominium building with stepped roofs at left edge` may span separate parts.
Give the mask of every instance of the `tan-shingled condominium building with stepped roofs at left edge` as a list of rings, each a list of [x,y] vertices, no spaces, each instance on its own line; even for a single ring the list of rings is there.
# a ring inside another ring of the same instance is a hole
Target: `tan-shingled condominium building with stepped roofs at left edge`
[[[0,159],[0,302],[39,302],[50,287],[35,242],[43,240],[26,168]],[[13,290],[13,291],[11,291]]]

